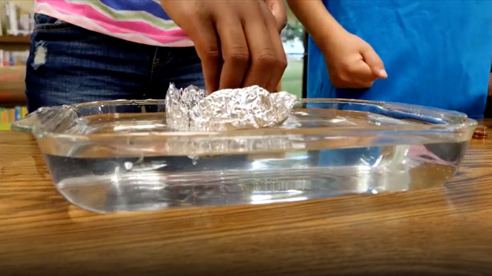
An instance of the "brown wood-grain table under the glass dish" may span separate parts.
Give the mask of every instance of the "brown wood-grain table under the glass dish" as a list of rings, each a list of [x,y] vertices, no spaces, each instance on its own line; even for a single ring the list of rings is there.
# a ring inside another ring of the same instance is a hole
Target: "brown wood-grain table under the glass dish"
[[[30,135],[0,132],[0,149],[2,276],[492,271],[492,133],[447,188],[111,215],[62,199]]]

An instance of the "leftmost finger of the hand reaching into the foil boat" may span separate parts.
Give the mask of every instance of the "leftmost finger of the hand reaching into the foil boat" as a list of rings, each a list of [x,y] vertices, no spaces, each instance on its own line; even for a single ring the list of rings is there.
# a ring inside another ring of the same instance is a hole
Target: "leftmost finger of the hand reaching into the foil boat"
[[[194,26],[194,30],[200,33],[195,36],[195,49],[201,59],[207,91],[211,93],[219,89],[221,77],[222,54],[219,40],[211,22],[201,22]]]

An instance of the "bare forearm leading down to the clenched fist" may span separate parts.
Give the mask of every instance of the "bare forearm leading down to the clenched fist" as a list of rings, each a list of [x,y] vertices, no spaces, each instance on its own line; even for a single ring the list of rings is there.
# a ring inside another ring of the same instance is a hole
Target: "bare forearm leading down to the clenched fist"
[[[321,0],[287,0],[287,3],[319,47],[346,32]]]

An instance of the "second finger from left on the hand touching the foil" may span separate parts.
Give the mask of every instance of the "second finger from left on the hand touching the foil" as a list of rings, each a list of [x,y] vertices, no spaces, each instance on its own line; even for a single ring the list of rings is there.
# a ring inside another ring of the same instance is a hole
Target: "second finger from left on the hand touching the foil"
[[[229,18],[217,24],[221,39],[223,65],[220,74],[219,89],[239,88],[249,64],[248,44],[243,25],[237,18]]]

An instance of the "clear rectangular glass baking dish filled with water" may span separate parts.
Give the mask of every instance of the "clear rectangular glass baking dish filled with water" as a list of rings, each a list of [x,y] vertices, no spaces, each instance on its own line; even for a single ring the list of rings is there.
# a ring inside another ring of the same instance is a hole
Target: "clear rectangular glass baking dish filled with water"
[[[164,100],[46,107],[34,134],[58,191],[94,212],[267,204],[439,187],[476,121],[364,100],[298,100],[275,128],[177,132]]]

